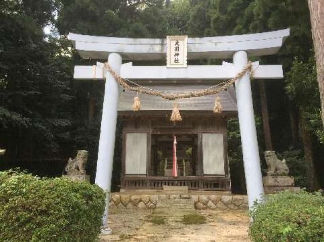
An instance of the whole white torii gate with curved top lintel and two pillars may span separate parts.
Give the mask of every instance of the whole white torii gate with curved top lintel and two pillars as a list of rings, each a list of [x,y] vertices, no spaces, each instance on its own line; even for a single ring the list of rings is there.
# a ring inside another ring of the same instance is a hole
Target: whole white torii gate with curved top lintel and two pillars
[[[188,38],[188,59],[229,59],[233,64],[223,62],[221,66],[195,65],[186,68],[166,66],[133,66],[122,64],[122,60],[164,60],[166,59],[166,39],[99,37],[69,34],[73,46],[83,58],[107,60],[112,69],[121,77],[141,80],[172,79],[222,80],[233,78],[248,64],[248,56],[273,55],[278,52],[289,29],[244,35],[222,37]],[[103,65],[75,66],[75,79],[103,79]],[[281,65],[252,66],[255,79],[280,79],[283,77]],[[119,85],[105,73],[105,95],[102,110],[96,184],[110,192],[116,120],[118,111]],[[245,177],[249,207],[260,199],[263,191],[259,147],[255,127],[250,75],[245,74],[235,83],[239,130],[241,135]],[[108,205],[104,215],[104,225]]]

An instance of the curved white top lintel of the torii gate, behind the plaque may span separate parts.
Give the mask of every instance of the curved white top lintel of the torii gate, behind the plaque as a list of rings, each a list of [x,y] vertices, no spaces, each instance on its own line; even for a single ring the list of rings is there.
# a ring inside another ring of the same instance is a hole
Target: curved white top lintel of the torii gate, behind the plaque
[[[250,56],[278,52],[289,29],[264,33],[220,37],[188,38],[188,59],[228,59],[236,51]],[[100,37],[69,33],[68,38],[83,58],[107,60],[109,53],[119,53],[125,60],[164,60],[167,42],[163,38]]]

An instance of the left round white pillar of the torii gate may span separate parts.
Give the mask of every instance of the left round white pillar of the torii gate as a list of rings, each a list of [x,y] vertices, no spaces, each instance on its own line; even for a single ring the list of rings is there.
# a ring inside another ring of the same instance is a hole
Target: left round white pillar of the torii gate
[[[119,54],[109,54],[108,63],[117,74],[120,72],[121,62],[122,58]],[[112,177],[113,153],[115,148],[118,96],[119,85],[114,77],[107,71],[96,172],[96,184],[107,192],[105,213],[103,215],[103,228],[107,231],[110,231],[107,229],[107,217]]]

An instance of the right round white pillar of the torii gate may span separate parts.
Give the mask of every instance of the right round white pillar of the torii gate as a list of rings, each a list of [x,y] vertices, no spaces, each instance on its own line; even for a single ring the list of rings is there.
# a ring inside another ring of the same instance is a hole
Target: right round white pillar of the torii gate
[[[248,64],[247,52],[235,52],[233,64],[236,72],[241,71]],[[246,73],[235,82],[235,91],[245,179],[249,208],[251,209],[255,200],[262,199],[264,190],[249,73]]]

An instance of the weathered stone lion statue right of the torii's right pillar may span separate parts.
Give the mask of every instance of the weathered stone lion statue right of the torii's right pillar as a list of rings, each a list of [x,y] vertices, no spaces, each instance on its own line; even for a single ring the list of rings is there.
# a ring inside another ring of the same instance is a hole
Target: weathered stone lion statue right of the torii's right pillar
[[[274,151],[264,152],[265,161],[268,166],[268,176],[287,176],[289,169],[285,159],[278,159]]]

